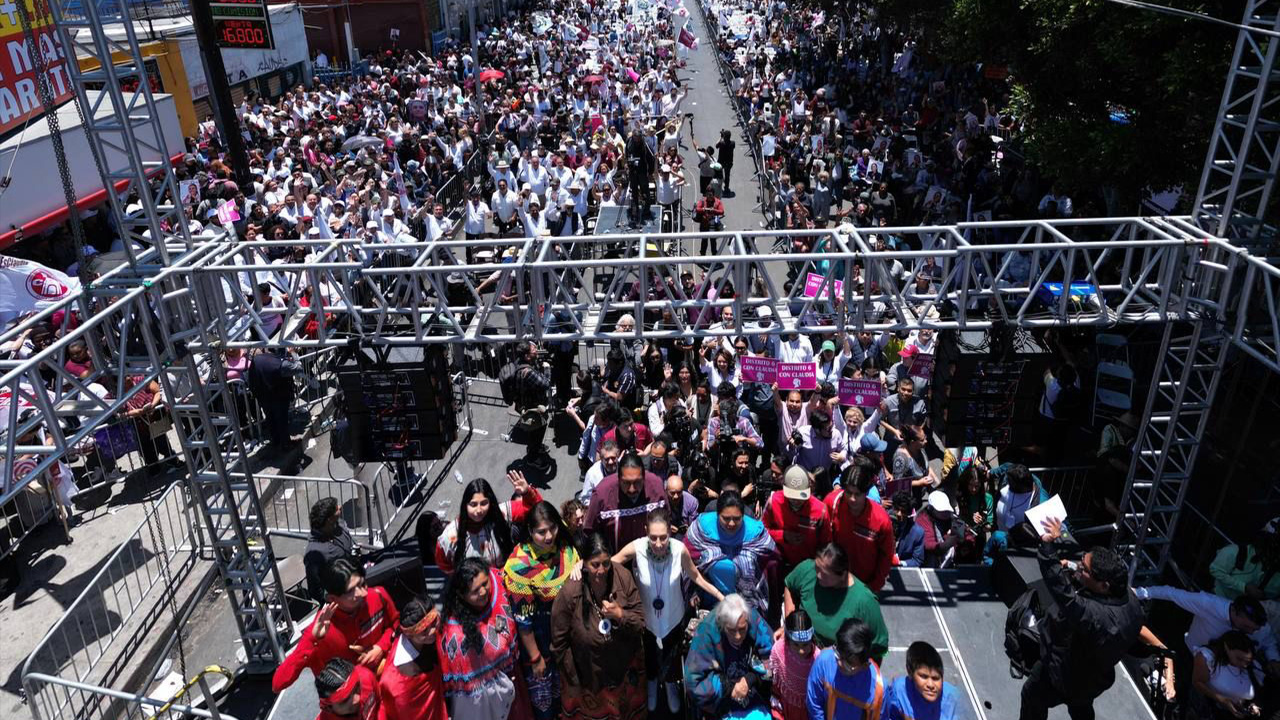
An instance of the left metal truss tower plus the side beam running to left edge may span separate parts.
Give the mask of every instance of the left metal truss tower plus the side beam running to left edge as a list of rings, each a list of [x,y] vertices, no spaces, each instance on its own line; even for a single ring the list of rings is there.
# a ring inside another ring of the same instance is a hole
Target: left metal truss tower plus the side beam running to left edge
[[[274,665],[293,626],[257,492],[252,482],[233,477],[247,466],[234,402],[218,355],[191,351],[212,347],[219,336],[210,333],[221,320],[196,300],[184,270],[207,261],[220,238],[192,237],[174,200],[180,195],[168,159],[183,149],[165,145],[128,4],[49,5],[67,56],[97,64],[92,70],[74,61],[65,67],[128,263],[63,307],[50,307],[0,338],[15,340],[58,310],[79,320],[50,347],[0,366],[0,397],[8,401],[0,406],[6,420],[0,428],[8,429],[4,465],[15,468],[19,456],[36,460],[20,478],[4,473],[0,502],[116,420],[146,383],[159,382],[180,439],[188,495],[201,509],[246,659]],[[113,40],[109,27],[123,29],[123,36]],[[124,92],[124,83],[137,91]],[[101,92],[91,95],[91,87]],[[148,154],[160,159],[145,161]],[[131,200],[140,205],[132,213]],[[93,370],[84,378],[65,370],[65,354],[76,341],[84,342],[92,357]],[[58,380],[55,389],[45,392],[50,378]],[[36,413],[24,413],[27,407]],[[67,702],[69,697],[61,700]]]

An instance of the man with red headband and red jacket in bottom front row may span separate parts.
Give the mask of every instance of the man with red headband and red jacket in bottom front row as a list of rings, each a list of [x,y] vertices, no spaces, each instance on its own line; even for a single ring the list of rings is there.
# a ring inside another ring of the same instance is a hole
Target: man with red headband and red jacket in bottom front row
[[[401,612],[390,662],[378,679],[385,720],[448,720],[444,678],[435,655],[440,612],[431,601],[411,600]]]

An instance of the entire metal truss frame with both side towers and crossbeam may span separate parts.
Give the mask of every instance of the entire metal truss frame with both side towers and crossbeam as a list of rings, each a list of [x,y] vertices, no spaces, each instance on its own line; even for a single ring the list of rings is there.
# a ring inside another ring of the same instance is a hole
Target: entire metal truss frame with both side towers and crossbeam
[[[707,254],[691,252],[699,234],[230,243],[192,237],[173,201],[172,168],[142,161],[142,150],[163,149],[164,140],[128,4],[51,5],[68,54],[99,61],[95,70],[74,63],[68,70],[129,263],[0,336],[0,343],[17,341],[59,310],[79,318],[49,347],[0,363],[0,460],[5,468],[20,456],[37,460],[20,478],[0,473],[0,502],[113,421],[142,383],[160,382],[188,493],[201,507],[251,662],[280,660],[292,626],[260,498],[244,475],[223,348],[632,337],[612,329],[621,313],[643,319],[634,337],[737,334],[712,322],[724,307],[740,322],[772,310],[776,322],[753,323],[753,333],[1164,323],[1116,533],[1144,575],[1167,561],[1225,355],[1235,348],[1280,372],[1280,269],[1233,243],[1270,237],[1280,161],[1280,126],[1268,115],[1271,37],[1242,35],[1192,218],[713,233]],[[1280,27],[1272,5],[1251,0],[1247,23]],[[124,35],[111,40],[108,27]],[[140,90],[120,91],[125,79],[141,81]],[[96,105],[90,85],[105,88]],[[131,195],[141,210],[125,211]],[[814,236],[820,251],[773,252],[797,234]],[[877,250],[882,234],[919,250]],[[310,254],[302,263],[273,261],[274,245],[306,245]],[[506,256],[468,263],[467,250]],[[910,282],[922,264],[936,278],[924,288]],[[692,287],[716,292],[691,292],[685,273]],[[278,284],[285,300],[264,305],[253,292],[261,282]],[[77,341],[93,359],[87,377],[65,369]],[[50,379],[54,389],[45,392]]]

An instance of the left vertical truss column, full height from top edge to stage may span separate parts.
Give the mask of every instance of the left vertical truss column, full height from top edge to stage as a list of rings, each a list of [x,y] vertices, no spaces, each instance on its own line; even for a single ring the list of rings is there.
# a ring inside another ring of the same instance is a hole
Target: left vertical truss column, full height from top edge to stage
[[[219,571],[232,602],[250,664],[283,660],[282,634],[292,623],[261,503],[247,473],[236,405],[216,351],[198,357],[189,347],[216,348],[225,340],[223,322],[211,319],[186,277],[164,268],[197,259],[211,243],[196,245],[169,163],[184,147],[169,147],[127,3],[49,0],[67,56],[67,72],[81,104],[90,149],[101,168],[102,187],[124,237],[129,270],[118,281],[147,288],[146,316],[140,319],[151,368],[159,370],[174,414],[189,473],[189,491],[201,506]],[[74,59],[96,61],[81,70]],[[132,79],[136,92],[124,92]],[[90,96],[90,85],[101,92]],[[136,193],[141,210],[125,211]],[[209,238],[216,240],[216,238]],[[137,251],[133,243],[154,250]],[[159,278],[159,279],[157,279]],[[124,359],[120,373],[125,373]],[[233,477],[233,471],[239,474]]]

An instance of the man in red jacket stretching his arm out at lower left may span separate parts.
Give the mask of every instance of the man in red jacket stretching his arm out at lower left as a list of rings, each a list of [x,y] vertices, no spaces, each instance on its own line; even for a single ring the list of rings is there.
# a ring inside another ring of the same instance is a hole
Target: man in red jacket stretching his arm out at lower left
[[[399,612],[387,591],[366,588],[365,571],[344,557],[330,562],[321,578],[329,602],[275,669],[276,693],[297,682],[305,667],[319,678],[326,662],[340,657],[376,670],[392,650]]]

